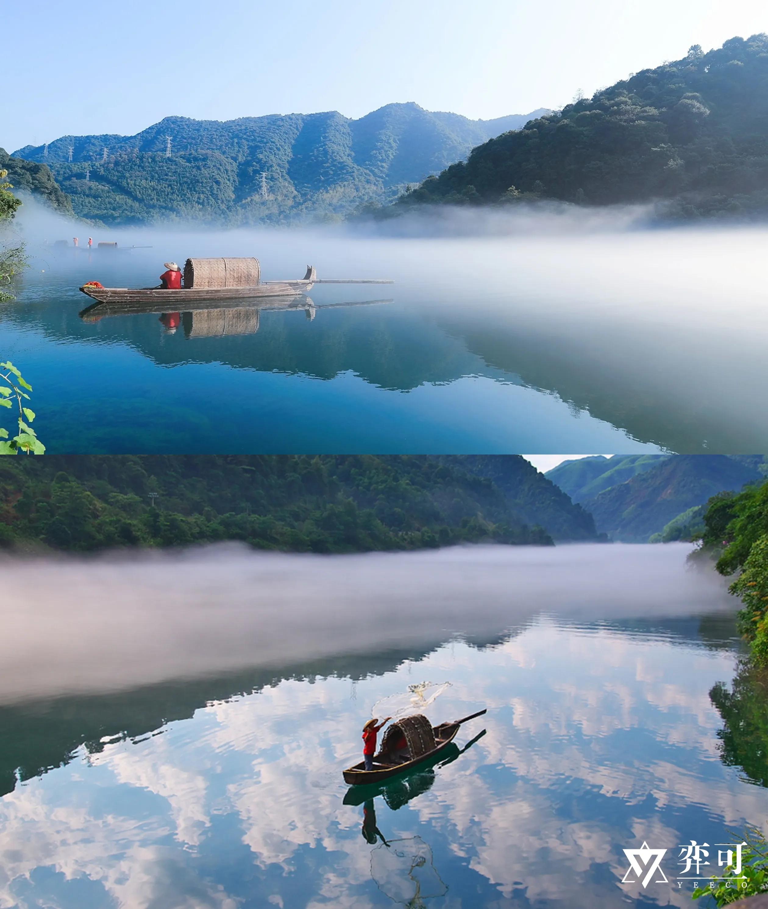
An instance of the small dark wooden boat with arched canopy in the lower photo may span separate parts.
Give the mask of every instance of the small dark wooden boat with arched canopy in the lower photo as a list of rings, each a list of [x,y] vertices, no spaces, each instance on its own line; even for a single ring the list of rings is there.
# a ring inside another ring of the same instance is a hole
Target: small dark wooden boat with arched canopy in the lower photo
[[[374,769],[366,770],[364,761],[347,767],[344,782],[351,785],[381,783],[391,776],[407,773],[424,762],[430,762],[454,741],[461,724],[484,713],[485,710],[479,710],[476,714],[441,723],[439,726],[431,725],[424,714],[404,716],[391,724],[384,733],[381,750],[374,755]],[[408,746],[403,753],[394,754],[394,743],[403,735]]]

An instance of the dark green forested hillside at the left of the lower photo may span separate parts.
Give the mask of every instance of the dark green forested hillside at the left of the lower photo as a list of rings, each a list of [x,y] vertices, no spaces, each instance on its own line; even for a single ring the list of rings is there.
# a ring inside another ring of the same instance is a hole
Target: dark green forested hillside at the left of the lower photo
[[[89,551],[222,540],[319,553],[552,544],[489,480],[427,456],[50,455],[0,463],[0,544]]]

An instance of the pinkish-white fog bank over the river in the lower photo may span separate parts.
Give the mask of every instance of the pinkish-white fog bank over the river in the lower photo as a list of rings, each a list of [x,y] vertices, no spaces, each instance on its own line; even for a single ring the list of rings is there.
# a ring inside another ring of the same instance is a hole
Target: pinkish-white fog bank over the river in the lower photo
[[[0,703],[493,636],[541,613],[592,621],[733,611],[723,578],[686,564],[690,550],[318,556],[225,545],[5,558]]]

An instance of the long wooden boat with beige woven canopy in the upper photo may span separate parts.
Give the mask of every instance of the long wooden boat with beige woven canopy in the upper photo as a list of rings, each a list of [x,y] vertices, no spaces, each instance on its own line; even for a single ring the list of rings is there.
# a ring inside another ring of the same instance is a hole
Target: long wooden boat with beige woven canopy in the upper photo
[[[384,279],[318,280],[314,265],[307,265],[303,278],[295,281],[262,281],[261,266],[254,258],[187,259],[184,287],[95,287],[80,290],[98,303],[155,303],[163,310],[181,310],[185,303],[254,297],[295,297],[308,294],[316,284],[393,284]]]

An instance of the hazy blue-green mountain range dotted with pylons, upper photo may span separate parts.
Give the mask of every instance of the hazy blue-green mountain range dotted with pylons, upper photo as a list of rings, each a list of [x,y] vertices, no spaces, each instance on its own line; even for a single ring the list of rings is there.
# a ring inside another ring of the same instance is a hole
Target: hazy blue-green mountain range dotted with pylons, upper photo
[[[170,116],[137,135],[67,135],[16,154],[50,165],[84,217],[247,224],[343,215],[392,199],[541,113],[469,120],[395,104],[358,120],[335,111],[227,122]]]

